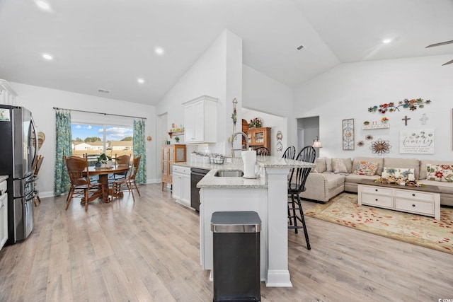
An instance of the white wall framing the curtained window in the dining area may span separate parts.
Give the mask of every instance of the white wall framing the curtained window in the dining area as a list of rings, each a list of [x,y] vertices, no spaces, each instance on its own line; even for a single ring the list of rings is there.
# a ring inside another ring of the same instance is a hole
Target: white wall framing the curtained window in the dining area
[[[18,93],[16,105],[28,108],[32,114],[39,131],[45,133],[45,141],[39,153],[44,156],[38,188],[40,197],[53,196],[54,168],[55,168],[55,110],[53,107],[68,108],[74,110],[86,110],[93,112],[111,113],[117,115],[130,115],[146,117],[145,136],[156,137],[156,108],[154,106],[130,103],[122,100],[110,100],[91,95],[59,91],[50,88],[30,86],[21,83],[10,83]],[[86,114],[71,113],[81,118]],[[86,115],[88,116],[88,115]],[[103,115],[92,115],[91,118],[100,120]],[[110,122],[120,117],[106,116]],[[93,121],[93,120],[91,120]],[[147,141],[147,182],[157,182],[156,178],[156,140]],[[159,169],[160,170],[160,169]]]

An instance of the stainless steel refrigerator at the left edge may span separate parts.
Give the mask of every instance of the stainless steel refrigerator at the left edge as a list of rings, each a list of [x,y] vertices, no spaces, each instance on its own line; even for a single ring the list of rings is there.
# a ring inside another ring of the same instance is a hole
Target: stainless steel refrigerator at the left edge
[[[9,175],[7,244],[25,240],[33,231],[33,163],[37,152],[38,136],[31,112],[0,105],[0,175]]]

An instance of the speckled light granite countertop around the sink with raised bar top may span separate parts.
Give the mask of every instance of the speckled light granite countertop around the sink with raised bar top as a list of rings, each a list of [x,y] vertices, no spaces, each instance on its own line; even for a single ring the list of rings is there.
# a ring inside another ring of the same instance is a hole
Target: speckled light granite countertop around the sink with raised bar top
[[[264,170],[266,168],[309,168],[314,167],[314,163],[304,163],[302,161],[294,161],[292,159],[281,158],[279,156],[257,156],[256,163],[260,173],[257,178],[219,178],[214,176],[217,170],[243,170],[241,158],[234,158],[234,163],[224,163],[222,165],[215,163],[193,163],[183,162],[174,163],[173,165],[180,165],[190,168],[202,168],[210,170],[207,175],[198,182],[197,187],[241,187],[241,188],[267,188],[267,178],[265,178]],[[238,161],[239,159],[239,161]]]

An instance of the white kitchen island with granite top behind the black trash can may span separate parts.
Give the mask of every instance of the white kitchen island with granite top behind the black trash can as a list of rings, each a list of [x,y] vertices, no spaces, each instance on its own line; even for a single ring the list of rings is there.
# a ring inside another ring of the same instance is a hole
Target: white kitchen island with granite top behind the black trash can
[[[212,270],[211,216],[215,211],[256,211],[261,219],[260,279],[266,286],[292,286],[288,271],[287,177],[290,168],[310,168],[312,163],[277,156],[258,156],[256,179],[216,177],[212,168],[198,182],[200,188],[200,262]],[[241,168],[241,165],[239,165]]]

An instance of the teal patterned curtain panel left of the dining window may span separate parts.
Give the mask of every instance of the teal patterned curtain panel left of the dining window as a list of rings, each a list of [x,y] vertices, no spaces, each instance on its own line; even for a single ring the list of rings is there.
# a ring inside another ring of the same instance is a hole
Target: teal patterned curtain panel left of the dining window
[[[69,190],[69,175],[63,155],[71,156],[71,112],[55,112],[55,178],[54,195],[59,196]]]

